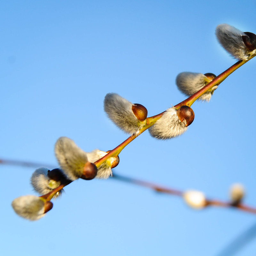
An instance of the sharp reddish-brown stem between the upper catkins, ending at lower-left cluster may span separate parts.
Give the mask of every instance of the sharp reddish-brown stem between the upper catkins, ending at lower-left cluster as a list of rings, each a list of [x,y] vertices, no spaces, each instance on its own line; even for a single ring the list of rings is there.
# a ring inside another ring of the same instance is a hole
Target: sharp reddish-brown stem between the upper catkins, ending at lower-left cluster
[[[200,96],[202,96],[205,92],[210,90],[213,86],[219,85],[223,82],[231,73],[233,73],[237,68],[241,67],[247,61],[251,60],[255,55],[252,55],[248,60],[239,60],[230,68],[222,72],[219,76],[216,76],[209,84],[204,86],[201,90],[194,93],[186,100],[181,101],[179,104],[175,105],[175,108],[180,108],[183,105],[191,106]],[[165,112],[165,111],[164,111]],[[147,118],[147,124],[143,126],[137,133],[132,134],[128,139],[124,140],[120,145],[116,148],[112,149],[107,155],[100,158],[98,161],[94,162],[94,164],[99,167],[102,163],[104,163],[109,157],[117,156],[132,140],[137,138],[142,132],[145,132],[150,126],[156,123],[158,119],[164,114],[164,112]]]

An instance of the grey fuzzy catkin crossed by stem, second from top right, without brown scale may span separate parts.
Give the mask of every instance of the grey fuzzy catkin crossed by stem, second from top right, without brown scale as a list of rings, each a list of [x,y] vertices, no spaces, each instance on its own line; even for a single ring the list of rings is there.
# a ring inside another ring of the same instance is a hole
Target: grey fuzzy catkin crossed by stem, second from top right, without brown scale
[[[180,92],[191,96],[198,92],[205,85],[209,84],[212,80],[201,73],[182,72],[176,77],[176,84]],[[212,87],[209,91],[205,92],[198,100],[209,101],[212,97],[214,90],[218,88],[217,85]]]

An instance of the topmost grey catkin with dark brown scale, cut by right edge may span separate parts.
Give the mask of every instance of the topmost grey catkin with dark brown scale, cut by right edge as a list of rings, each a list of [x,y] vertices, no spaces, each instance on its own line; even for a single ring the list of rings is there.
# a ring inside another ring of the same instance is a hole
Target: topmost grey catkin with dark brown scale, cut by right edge
[[[256,54],[256,35],[242,32],[228,24],[220,24],[215,32],[221,46],[238,60],[247,60]]]

